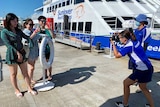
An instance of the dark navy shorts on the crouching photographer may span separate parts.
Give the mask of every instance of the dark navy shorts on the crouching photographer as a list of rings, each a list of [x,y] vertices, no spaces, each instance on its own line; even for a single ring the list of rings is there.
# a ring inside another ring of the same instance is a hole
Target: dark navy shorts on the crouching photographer
[[[133,81],[137,80],[138,83],[147,83],[152,80],[153,71],[153,67],[145,71],[134,69],[133,73],[129,75],[128,78],[130,78]]]

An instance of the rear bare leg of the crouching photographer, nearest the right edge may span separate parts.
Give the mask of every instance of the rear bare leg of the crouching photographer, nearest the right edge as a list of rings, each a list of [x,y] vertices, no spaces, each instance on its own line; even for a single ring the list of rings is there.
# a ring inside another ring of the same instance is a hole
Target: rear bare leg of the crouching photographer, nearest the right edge
[[[153,102],[151,93],[147,89],[147,83],[139,83],[139,87],[142,90],[142,92],[144,93],[144,95],[146,96],[146,98],[150,104],[150,107],[154,107],[154,102]]]

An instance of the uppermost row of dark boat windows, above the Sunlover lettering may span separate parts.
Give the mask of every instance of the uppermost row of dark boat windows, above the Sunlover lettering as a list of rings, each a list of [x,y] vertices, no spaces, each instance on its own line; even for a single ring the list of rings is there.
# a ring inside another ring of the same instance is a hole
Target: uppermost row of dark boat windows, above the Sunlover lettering
[[[89,0],[89,1],[90,2],[94,2],[94,1],[102,1],[102,0]],[[117,0],[106,0],[106,1],[109,2],[109,1],[117,1]],[[121,1],[126,2],[126,1],[130,1],[130,0],[121,0]],[[137,0],[137,1],[139,1],[139,0]],[[53,12],[57,8],[71,5],[72,3],[78,4],[78,3],[82,3],[82,2],[84,2],[84,0],[74,0],[74,1],[67,0],[67,1],[63,1],[63,2],[60,2],[60,3],[57,3],[55,5],[47,7],[47,13]]]

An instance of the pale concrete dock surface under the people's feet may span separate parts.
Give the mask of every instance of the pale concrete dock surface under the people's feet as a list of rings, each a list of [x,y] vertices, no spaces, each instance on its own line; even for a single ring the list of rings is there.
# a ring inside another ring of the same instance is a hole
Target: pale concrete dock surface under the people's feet
[[[89,52],[75,47],[54,43],[55,57],[52,64],[52,82],[55,88],[27,93],[25,81],[18,71],[18,85],[23,98],[17,98],[10,82],[8,66],[3,64],[3,81],[0,82],[0,107],[116,107],[123,99],[123,80],[132,72],[127,69],[128,58],[107,58],[106,53]],[[0,54],[5,58],[6,47],[0,45]],[[160,107],[160,61],[151,59],[155,72],[148,88],[155,107]],[[42,76],[39,59],[35,65],[34,79]],[[142,93],[135,93],[131,86],[129,107],[144,107],[147,103]]]

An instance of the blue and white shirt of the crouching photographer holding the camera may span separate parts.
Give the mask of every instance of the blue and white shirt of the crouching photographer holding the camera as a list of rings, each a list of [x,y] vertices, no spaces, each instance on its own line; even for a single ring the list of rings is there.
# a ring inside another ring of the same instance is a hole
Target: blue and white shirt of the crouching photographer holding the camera
[[[128,55],[135,69],[144,71],[152,67],[139,41],[129,40],[119,51],[122,56]]]

